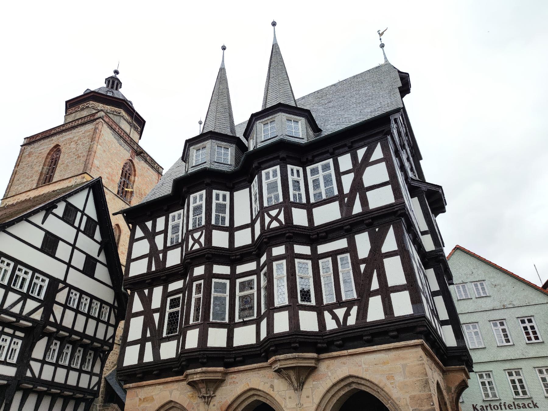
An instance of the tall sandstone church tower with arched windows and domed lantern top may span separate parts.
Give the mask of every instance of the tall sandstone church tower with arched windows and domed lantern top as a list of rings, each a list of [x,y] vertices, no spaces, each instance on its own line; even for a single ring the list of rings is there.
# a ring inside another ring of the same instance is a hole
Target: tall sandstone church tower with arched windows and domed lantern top
[[[162,167],[139,145],[145,120],[120,92],[118,74],[67,100],[63,124],[23,140],[0,207],[100,176],[112,214],[156,185]],[[129,229],[122,216],[111,219],[124,265]]]

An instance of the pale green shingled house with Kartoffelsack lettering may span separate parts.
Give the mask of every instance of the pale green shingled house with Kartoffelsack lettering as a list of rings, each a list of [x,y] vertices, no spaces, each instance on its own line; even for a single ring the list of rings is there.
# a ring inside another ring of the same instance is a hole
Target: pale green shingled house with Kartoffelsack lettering
[[[448,259],[474,362],[461,408],[548,409],[548,292],[460,246]]]

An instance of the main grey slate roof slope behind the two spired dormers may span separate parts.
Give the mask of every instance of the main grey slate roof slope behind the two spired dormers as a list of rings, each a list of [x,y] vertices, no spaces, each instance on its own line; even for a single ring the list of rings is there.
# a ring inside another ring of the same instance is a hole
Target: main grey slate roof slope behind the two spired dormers
[[[355,76],[324,87],[296,100],[296,105],[308,109],[324,136],[403,108],[399,94],[402,86],[398,70],[389,62],[370,68]],[[293,92],[292,92],[293,93]],[[243,138],[247,121],[236,125],[236,135]],[[205,127],[205,124],[204,124]],[[184,162],[178,159],[164,173],[143,202],[168,195],[173,180],[184,174]]]

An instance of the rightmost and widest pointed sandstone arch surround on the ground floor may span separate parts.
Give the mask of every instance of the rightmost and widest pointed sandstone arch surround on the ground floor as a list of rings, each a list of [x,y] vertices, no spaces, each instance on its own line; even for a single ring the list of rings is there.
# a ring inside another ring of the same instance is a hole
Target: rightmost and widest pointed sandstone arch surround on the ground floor
[[[378,398],[389,411],[402,411],[396,401],[373,381],[357,375],[347,375],[324,392],[316,411],[339,411],[344,402],[358,391],[365,391]]]

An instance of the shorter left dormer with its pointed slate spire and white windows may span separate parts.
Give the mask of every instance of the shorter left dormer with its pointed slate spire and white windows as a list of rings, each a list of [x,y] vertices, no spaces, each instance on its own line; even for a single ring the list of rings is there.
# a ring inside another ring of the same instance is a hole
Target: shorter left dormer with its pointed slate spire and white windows
[[[232,170],[238,164],[247,147],[236,136],[236,126],[232,115],[229,81],[226,76],[225,50],[221,47],[222,59],[203,129],[197,136],[187,139],[182,153],[187,172],[200,168]]]

